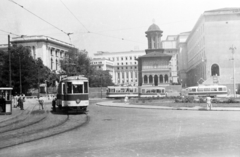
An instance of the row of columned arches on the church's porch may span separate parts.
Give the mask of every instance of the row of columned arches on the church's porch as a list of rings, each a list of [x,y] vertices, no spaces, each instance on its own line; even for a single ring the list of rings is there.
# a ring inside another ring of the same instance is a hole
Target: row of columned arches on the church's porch
[[[155,76],[157,76],[157,83],[169,83],[169,75],[163,74],[163,75],[144,75],[142,78],[143,84],[154,84]],[[151,78],[151,79],[150,79]]]

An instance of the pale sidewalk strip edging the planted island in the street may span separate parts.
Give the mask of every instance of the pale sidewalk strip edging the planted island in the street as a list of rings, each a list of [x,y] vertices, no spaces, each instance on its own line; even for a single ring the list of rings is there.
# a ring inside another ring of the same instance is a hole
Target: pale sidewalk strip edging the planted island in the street
[[[168,107],[168,106],[151,106],[151,105],[131,105],[129,103],[113,103],[112,101],[99,102],[99,106],[108,107],[123,107],[123,108],[141,108],[141,109],[159,109],[159,110],[192,110],[192,111],[207,111],[206,107],[195,106],[188,107]],[[213,107],[211,111],[240,111],[240,108],[235,107]]]

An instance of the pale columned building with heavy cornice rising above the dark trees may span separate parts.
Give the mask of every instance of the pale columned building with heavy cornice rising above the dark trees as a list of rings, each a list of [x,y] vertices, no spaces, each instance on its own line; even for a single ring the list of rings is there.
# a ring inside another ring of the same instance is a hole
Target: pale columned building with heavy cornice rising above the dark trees
[[[71,44],[43,35],[14,37],[11,43],[28,47],[34,59],[41,58],[45,66],[56,72],[61,70],[60,61],[69,58],[68,52],[76,50]]]

